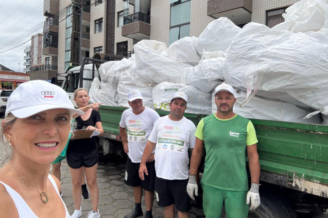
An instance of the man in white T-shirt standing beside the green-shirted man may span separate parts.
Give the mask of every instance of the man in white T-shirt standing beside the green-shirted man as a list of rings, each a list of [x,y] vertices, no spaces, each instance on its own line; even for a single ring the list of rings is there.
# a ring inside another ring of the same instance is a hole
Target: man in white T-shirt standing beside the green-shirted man
[[[189,218],[188,148],[192,151],[195,146],[196,126],[183,116],[187,100],[183,92],[173,94],[170,114],[155,122],[140,162],[139,176],[144,180],[149,174],[146,162],[156,148],[155,193],[166,218],[174,218],[174,204],[179,218]]]

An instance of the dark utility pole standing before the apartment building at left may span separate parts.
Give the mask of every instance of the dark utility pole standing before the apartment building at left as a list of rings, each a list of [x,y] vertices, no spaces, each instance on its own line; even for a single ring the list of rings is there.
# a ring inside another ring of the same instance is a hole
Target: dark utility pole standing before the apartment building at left
[[[83,0],[72,0],[73,4],[73,20],[72,20],[72,38],[70,62],[73,66],[80,65],[81,62],[81,31],[82,31],[82,2]]]

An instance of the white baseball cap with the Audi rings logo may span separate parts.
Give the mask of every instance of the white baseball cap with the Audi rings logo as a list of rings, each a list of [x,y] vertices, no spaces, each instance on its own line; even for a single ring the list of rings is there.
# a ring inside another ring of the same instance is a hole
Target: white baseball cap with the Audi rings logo
[[[12,113],[17,118],[26,118],[49,109],[68,109],[70,113],[84,114],[74,108],[69,95],[59,86],[32,80],[20,84],[10,95],[5,116]]]

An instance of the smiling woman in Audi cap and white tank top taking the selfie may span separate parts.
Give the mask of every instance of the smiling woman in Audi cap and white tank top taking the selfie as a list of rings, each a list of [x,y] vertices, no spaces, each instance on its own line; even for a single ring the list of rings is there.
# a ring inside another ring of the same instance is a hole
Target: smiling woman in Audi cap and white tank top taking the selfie
[[[0,217],[69,218],[49,171],[69,138],[72,113],[84,114],[46,81],[22,83],[11,94],[1,130],[12,155],[0,169]]]

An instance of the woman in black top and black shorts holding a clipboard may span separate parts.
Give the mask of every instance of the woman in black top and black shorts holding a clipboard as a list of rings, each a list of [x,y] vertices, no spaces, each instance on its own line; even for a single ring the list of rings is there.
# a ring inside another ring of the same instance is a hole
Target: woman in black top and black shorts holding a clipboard
[[[76,119],[77,129],[86,129],[86,131],[98,131],[100,136],[104,134],[103,125],[98,111],[99,105],[102,103],[88,104],[90,100],[86,89],[79,88],[74,91],[74,101],[78,109],[85,112],[84,115],[72,114],[72,118]],[[82,189],[86,189],[86,185],[82,184],[83,168],[86,172],[86,181],[90,189],[92,210],[88,213],[88,218],[100,218],[99,188],[97,184],[97,167],[98,167],[98,145],[96,137],[87,139],[76,139],[69,142],[67,149],[67,163],[73,184],[73,200],[75,204],[74,213],[71,218],[79,218],[82,216],[81,196]],[[84,177],[84,175],[83,175]],[[82,187],[82,189],[81,189]]]

